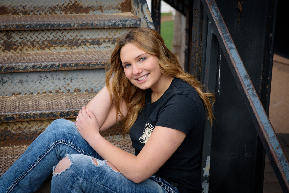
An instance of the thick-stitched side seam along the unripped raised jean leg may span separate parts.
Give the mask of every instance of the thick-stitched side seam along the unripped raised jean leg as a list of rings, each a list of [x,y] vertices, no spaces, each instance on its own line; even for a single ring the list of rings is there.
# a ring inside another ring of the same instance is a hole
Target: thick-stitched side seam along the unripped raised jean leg
[[[5,193],[9,193],[15,187],[15,185],[17,185],[17,183],[21,179],[23,179],[23,177],[25,177],[25,175],[27,175],[28,172],[30,172],[41,161],[41,159],[43,159],[45,157],[45,155],[47,155],[47,153],[49,153],[58,144],[68,145],[68,146],[72,147],[73,149],[75,149],[76,151],[78,151],[79,153],[84,154],[84,155],[88,155],[87,153],[85,153],[85,151],[83,151],[81,148],[79,148],[77,145],[75,145],[71,142],[68,142],[66,140],[55,141],[39,157],[37,157],[37,159],[10,185],[10,187],[6,190]]]

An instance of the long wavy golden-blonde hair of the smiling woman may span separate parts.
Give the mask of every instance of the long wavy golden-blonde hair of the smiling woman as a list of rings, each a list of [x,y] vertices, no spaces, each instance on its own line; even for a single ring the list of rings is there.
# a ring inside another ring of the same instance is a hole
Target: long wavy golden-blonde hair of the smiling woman
[[[204,91],[204,86],[197,79],[184,72],[175,55],[166,47],[160,34],[150,28],[136,28],[118,39],[110,57],[110,66],[106,66],[106,86],[112,91],[110,100],[117,107],[117,114],[124,120],[123,134],[127,133],[135,123],[139,112],[144,107],[146,90],[134,86],[125,76],[121,65],[120,51],[128,43],[136,45],[139,49],[155,55],[158,58],[161,72],[170,77],[177,77],[189,83],[199,94],[206,110],[207,118],[211,125],[214,119],[212,105],[215,101],[213,93]],[[112,78],[112,86],[110,79]],[[111,92],[110,92],[111,93]],[[113,95],[113,96],[112,96]],[[127,103],[127,116],[121,113],[122,98]]]

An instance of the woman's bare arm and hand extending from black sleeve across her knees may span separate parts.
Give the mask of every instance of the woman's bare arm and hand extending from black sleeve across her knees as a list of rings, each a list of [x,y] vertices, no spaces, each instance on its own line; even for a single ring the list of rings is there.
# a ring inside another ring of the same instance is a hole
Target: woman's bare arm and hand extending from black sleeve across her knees
[[[94,114],[82,108],[77,130],[93,149],[110,162],[127,179],[140,183],[153,175],[177,150],[186,134],[167,127],[155,127],[138,156],[119,149],[99,134]]]

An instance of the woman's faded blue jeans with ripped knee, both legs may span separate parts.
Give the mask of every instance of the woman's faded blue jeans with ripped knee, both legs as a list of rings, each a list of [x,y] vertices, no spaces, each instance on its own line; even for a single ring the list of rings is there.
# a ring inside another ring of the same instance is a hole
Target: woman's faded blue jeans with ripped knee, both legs
[[[80,136],[75,123],[65,119],[54,120],[2,175],[0,192],[35,192],[67,155],[71,164],[53,174],[51,192],[179,193],[161,178],[153,176],[136,184],[112,170]]]

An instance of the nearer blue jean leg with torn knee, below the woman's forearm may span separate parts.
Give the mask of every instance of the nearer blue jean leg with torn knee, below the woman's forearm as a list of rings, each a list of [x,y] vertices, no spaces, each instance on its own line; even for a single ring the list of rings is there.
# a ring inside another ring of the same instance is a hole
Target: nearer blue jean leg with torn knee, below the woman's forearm
[[[151,179],[134,183],[125,178],[121,172],[112,170],[105,161],[91,156],[73,154],[68,158],[70,160],[68,168],[53,174],[51,192],[167,193]]]

